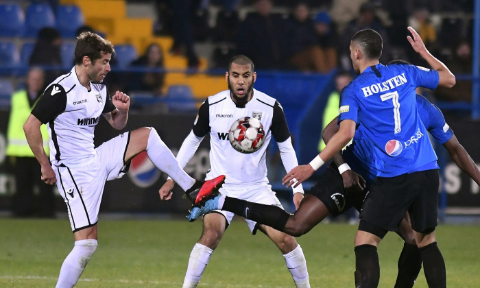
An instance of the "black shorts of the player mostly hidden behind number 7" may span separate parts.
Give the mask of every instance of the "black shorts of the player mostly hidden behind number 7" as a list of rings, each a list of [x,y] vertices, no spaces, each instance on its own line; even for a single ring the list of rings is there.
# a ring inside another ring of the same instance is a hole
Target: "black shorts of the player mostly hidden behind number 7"
[[[307,194],[320,199],[333,216],[346,212],[352,206],[360,211],[366,193],[366,189],[363,193],[348,193],[344,189],[344,181],[334,164],[328,166],[317,184],[307,192]]]

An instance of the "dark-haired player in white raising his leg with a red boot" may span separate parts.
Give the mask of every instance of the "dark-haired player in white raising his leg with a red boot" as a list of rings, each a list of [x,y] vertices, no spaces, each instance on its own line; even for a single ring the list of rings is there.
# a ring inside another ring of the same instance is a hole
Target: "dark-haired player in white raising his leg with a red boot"
[[[82,33],[75,47],[75,66],[58,77],[40,97],[23,130],[41,166],[42,180],[57,183],[67,204],[75,245],[64,260],[56,287],[73,287],[97,249],[97,219],[106,180],[121,178],[130,160],[146,151],[154,165],[175,179],[193,202],[218,189],[224,176],[196,181],[178,165],[156,130],[143,127],[124,132],[95,148],[93,132],[100,115],[121,130],[128,119],[130,98],[113,97],[103,83],[115,49],[110,41]],[[47,124],[50,159],[43,149],[40,125]]]

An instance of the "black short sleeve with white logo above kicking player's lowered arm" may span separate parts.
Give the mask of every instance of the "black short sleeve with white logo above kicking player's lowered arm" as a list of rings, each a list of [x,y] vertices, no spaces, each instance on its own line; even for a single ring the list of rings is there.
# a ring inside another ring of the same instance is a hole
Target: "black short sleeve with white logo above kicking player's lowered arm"
[[[52,84],[38,99],[32,115],[45,124],[55,120],[66,107],[67,93],[65,93],[65,89],[60,84]]]

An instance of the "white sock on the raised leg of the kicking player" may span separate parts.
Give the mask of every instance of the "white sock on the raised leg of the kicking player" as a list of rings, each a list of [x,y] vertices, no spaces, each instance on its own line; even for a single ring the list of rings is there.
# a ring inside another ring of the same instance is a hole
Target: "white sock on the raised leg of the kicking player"
[[[148,136],[147,155],[155,167],[167,173],[184,191],[187,191],[195,184],[195,179],[191,178],[189,174],[180,167],[175,156],[171,154],[169,147],[163,143],[153,127]]]

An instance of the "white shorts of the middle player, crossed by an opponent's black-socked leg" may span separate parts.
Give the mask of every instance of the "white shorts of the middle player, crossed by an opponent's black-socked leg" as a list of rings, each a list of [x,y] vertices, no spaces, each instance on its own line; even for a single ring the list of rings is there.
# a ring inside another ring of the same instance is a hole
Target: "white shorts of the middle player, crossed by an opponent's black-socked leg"
[[[241,200],[246,200],[248,202],[274,205],[284,209],[282,204],[276,197],[276,193],[272,191],[272,186],[270,186],[269,184],[257,184],[250,187],[243,187],[243,189],[228,189],[228,188],[225,189],[224,187],[221,187],[219,192],[222,195],[235,197]],[[224,215],[228,225],[230,225],[230,222],[232,221],[233,216],[235,216],[234,213],[229,211],[215,210],[213,212]],[[250,228],[250,232],[252,232],[252,234],[255,235],[256,221],[252,221],[250,219],[245,219],[245,218],[244,220],[245,222],[247,222],[248,228]]]

